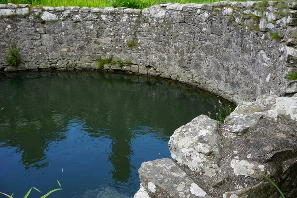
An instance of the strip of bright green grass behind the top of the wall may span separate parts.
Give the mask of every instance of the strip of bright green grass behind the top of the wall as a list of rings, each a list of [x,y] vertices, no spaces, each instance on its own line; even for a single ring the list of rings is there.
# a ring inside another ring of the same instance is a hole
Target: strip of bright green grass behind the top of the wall
[[[127,7],[146,8],[162,3],[214,3],[222,0],[0,0],[0,4],[31,4],[42,6]],[[245,0],[237,0],[245,1]],[[254,0],[257,1],[257,0]]]

